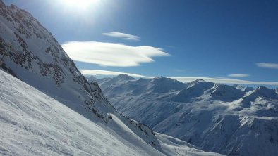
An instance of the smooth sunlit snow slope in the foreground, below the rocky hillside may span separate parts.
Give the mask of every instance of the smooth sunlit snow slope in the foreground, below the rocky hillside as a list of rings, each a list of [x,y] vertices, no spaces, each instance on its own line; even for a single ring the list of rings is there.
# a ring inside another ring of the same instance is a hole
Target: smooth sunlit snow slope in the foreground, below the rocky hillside
[[[150,145],[138,122],[87,119],[1,70],[0,93],[0,155],[217,155],[163,134]]]

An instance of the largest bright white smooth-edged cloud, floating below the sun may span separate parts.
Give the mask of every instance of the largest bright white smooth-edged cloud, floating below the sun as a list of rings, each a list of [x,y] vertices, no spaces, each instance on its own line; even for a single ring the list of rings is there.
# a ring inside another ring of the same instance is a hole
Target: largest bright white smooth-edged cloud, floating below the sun
[[[73,60],[111,67],[133,67],[154,62],[153,57],[170,56],[153,46],[127,46],[96,41],[70,41],[61,45]]]

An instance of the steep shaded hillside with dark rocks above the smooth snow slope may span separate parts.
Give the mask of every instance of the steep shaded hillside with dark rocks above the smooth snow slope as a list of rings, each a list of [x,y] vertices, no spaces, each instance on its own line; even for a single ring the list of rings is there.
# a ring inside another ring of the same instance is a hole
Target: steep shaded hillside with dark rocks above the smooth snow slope
[[[80,74],[52,34],[17,6],[0,1],[0,8],[0,44],[4,47],[0,54],[6,55],[1,67],[76,112],[108,122],[114,108],[97,83],[88,83]]]

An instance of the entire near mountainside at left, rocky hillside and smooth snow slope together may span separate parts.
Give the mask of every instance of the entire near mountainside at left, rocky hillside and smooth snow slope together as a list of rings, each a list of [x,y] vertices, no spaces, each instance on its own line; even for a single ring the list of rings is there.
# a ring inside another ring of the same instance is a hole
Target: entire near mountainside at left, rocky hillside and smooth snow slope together
[[[40,22],[1,0],[0,50],[0,155],[214,155],[121,115]]]

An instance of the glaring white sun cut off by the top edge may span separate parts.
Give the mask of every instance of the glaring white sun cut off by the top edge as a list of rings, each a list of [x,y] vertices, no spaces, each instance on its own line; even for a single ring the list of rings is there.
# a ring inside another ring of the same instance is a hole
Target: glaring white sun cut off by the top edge
[[[86,11],[90,6],[97,4],[99,0],[61,0],[64,6],[77,9],[78,11]]]

